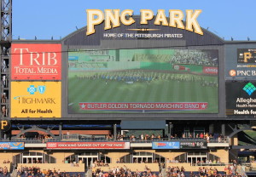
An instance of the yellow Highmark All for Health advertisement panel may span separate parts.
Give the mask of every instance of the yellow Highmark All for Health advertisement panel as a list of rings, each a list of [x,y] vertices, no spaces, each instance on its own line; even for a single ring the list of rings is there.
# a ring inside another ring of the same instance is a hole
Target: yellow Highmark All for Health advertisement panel
[[[11,117],[61,117],[61,82],[11,82]]]

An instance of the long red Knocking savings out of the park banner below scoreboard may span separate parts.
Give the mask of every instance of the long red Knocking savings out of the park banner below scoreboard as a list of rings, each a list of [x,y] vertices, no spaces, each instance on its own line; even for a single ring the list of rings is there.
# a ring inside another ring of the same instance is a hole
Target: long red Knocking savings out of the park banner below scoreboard
[[[47,142],[47,149],[130,149],[130,142]]]

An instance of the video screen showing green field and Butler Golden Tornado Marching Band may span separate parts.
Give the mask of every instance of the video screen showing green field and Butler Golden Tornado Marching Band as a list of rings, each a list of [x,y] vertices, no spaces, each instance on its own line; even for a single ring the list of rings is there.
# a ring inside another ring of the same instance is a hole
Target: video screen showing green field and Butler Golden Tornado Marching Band
[[[69,50],[68,113],[218,113],[218,50]]]

